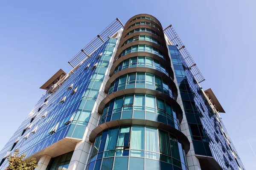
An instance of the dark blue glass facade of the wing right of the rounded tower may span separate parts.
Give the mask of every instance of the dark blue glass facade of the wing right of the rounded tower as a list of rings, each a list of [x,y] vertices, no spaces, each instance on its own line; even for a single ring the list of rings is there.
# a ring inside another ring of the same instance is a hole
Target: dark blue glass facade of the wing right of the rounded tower
[[[223,169],[239,170],[234,151],[225,139],[223,127],[218,121],[218,113],[213,112],[177,47],[169,45],[169,51],[195,154],[213,157]]]

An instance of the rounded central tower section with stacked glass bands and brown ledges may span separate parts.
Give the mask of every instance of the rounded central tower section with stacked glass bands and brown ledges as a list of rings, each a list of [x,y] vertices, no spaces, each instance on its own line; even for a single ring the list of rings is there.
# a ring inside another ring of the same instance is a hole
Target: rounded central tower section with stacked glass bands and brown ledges
[[[190,148],[163,27],[148,14],[131,17],[119,37],[101,115],[89,140],[87,170],[186,170]]]

